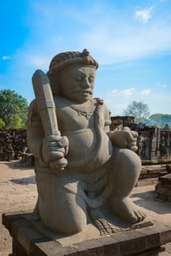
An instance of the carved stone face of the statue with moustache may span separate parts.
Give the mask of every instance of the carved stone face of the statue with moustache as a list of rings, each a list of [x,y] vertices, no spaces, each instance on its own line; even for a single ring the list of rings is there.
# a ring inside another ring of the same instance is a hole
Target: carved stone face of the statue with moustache
[[[86,102],[93,96],[96,69],[72,65],[61,74],[61,95],[75,102]]]

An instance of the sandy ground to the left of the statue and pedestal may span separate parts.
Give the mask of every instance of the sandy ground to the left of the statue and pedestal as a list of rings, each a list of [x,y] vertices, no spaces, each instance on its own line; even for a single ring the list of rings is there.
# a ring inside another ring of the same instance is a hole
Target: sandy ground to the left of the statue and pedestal
[[[37,187],[34,170],[18,162],[0,162],[0,215],[34,208]],[[12,252],[12,238],[0,222],[0,256]]]

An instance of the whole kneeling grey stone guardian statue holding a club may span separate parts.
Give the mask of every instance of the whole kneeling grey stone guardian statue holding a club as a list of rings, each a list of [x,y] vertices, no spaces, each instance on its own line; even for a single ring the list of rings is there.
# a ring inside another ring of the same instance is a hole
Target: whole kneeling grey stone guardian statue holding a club
[[[110,114],[93,99],[98,63],[88,50],[59,53],[45,75],[33,76],[36,99],[28,110],[28,147],[35,156],[37,210],[56,233],[78,233],[102,209],[123,222],[145,214],[129,198],[140,175],[137,132],[110,132]],[[98,222],[98,221],[97,221]]]

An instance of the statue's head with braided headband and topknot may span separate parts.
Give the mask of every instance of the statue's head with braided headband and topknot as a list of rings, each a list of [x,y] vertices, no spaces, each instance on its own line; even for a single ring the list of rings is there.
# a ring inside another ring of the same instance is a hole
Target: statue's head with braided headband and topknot
[[[97,68],[98,63],[86,49],[83,53],[59,53],[50,62],[47,72],[53,94],[61,94],[76,102],[86,102],[93,95]]]

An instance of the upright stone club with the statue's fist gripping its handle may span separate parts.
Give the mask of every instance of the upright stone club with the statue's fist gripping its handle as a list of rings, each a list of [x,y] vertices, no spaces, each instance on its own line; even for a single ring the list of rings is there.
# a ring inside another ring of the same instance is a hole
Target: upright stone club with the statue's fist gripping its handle
[[[56,106],[50,82],[42,70],[37,70],[32,83],[37,101],[37,108],[42,121],[45,138],[42,142],[42,157],[52,169],[63,169],[67,165],[64,156],[68,152],[68,139],[61,136],[56,118]]]

